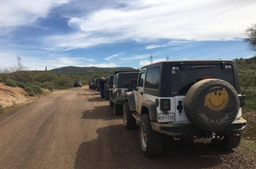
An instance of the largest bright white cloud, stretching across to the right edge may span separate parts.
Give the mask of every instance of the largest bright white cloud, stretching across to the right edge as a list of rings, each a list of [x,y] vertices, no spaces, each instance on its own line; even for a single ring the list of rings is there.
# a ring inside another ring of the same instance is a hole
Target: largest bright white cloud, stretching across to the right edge
[[[77,33],[48,37],[51,46],[69,50],[125,41],[157,39],[234,40],[242,38],[255,22],[256,1],[247,0],[137,0],[122,1],[122,7],[106,7],[68,25]],[[65,41],[66,40],[66,41]],[[68,41],[67,41],[68,40]],[[147,46],[147,48],[163,45]]]

